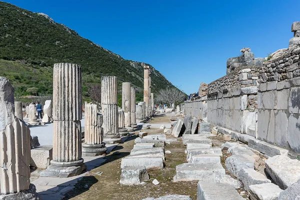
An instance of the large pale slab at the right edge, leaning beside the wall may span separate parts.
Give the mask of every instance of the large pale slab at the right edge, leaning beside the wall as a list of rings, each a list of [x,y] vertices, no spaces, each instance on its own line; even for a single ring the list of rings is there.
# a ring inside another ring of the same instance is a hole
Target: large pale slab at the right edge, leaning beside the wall
[[[300,179],[299,166],[299,160],[283,155],[275,155],[265,160],[266,172],[281,189],[286,189]]]

